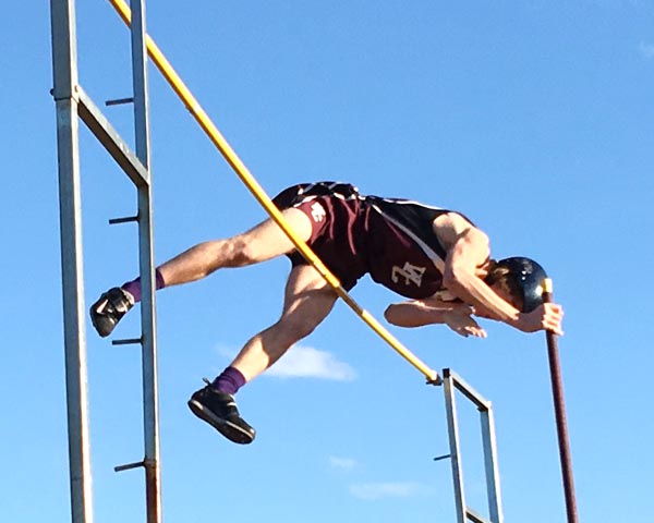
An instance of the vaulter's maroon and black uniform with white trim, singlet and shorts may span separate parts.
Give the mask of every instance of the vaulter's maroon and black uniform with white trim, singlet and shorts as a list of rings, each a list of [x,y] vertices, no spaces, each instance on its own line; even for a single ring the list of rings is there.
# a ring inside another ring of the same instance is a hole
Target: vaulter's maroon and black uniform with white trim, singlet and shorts
[[[411,299],[443,290],[446,250],[434,220],[446,212],[417,202],[363,196],[346,183],[300,184],[275,197],[279,208],[301,209],[312,220],[306,242],[344,289],[370,273],[374,281]],[[301,254],[289,255],[305,264]]]

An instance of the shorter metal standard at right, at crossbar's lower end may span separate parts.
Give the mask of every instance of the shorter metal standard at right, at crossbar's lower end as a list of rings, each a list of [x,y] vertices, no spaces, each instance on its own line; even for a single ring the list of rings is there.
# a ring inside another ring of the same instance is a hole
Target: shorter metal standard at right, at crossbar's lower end
[[[468,385],[456,373],[446,368],[443,370],[443,385],[445,387],[445,404],[447,410],[447,426],[449,433],[450,458],[452,466],[452,481],[455,485],[455,502],[457,506],[457,523],[502,523],[501,497],[499,491],[499,471],[497,467],[497,446],[495,442],[495,422],[493,408],[488,400]],[[484,469],[486,471],[486,492],[488,498],[488,513],[486,520],[468,507],[463,488],[463,469],[461,449],[459,445],[459,424],[457,421],[456,391],[461,392],[480,411],[482,424],[482,443],[484,447]],[[443,457],[446,458],[446,457]]]

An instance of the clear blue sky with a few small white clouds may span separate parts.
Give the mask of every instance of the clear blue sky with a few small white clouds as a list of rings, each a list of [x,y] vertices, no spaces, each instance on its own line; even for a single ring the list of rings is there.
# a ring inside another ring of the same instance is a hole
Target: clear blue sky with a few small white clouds
[[[566,308],[560,340],[581,521],[654,506],[654,4],[638,0],[150,2],[149,33],[269,194],[339,179],[465,212],[498,257],[538,259]],[[131,94],[129,33],[77,5],[81,84]],[[48,2],[0,21],[3,256],[0,520],[70,521],[56,122]],[[156,256],[230,235],[264,211],[150,70]],[[129,107],[104,108],[132,142]],[[86,301],[136,272],[135,193],[81,132]],[[300,522],[455,521],[440,388],[343,305],[239,394],[238,447],[185,402],[275,321],[286,259],[158,294],[164,515]],[[354,297],[380,317],[398,296]],[[137,336],[137,313],[118,335]],[[485,324],[393,333],[493,401],[506,521],[564,521],[544,336]],[[88,332],[97,522],[144,521],[137,350]],[[471,504],[484,511],[479,425],[461,408]],[[37,502],[38,501],[38,502]]]

